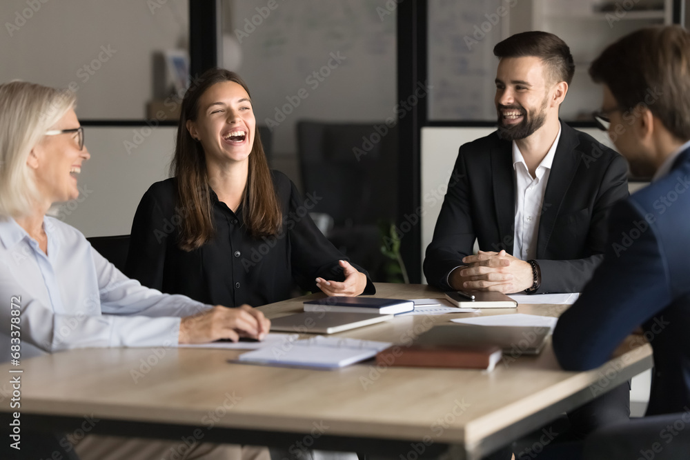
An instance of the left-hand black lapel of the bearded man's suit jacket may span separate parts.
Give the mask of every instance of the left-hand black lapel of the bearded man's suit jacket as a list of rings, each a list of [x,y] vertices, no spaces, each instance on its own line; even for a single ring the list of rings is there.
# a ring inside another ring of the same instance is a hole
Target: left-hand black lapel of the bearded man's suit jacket
[[[505,241],[513,241],[515,234],[515,174],[513,174],[512,145],[511,142],[502,141],[500,146],[491,149],[493,203],[499,237],[497,243],[509,254],[513,254],[513,245],[505,244]]]

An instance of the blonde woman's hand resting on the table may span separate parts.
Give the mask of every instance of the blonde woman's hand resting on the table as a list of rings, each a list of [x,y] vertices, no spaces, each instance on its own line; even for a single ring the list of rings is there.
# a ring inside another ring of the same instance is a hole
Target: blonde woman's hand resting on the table
[[[207,343],[220,339],[233,342],[239,337],[262,340],[270,329],[270,320],[248,305],[227,308],[221,305],[182,318],[179,324],[179,343]]]

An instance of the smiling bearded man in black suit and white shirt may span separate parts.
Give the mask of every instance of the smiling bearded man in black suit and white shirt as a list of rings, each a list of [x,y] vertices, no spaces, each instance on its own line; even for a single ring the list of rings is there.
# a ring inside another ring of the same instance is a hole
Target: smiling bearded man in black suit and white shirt
[[[575,72],[564,41],[523,32],[493,52],[497,131],[460,147],[424,274],[441,290],[580,292],[628,196],[625,160],[558,118]],[[624,384],[571,412],[570,433],[628,417]]]

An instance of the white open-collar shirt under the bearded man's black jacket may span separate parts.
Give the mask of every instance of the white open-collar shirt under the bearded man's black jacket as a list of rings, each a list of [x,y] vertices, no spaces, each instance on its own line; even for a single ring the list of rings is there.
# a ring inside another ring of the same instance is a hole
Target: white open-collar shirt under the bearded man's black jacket
[[[546,183],[555,157],[556,147],[560,139],[560,125],[558,134],[535,170],[535,176],[529,174],[524,158],[517,143],[513,141],[513,169],[515,170],[515,230],[513,233],[513,256],[521,260],[536,259],[537,234],[539,220],[544,206]]]

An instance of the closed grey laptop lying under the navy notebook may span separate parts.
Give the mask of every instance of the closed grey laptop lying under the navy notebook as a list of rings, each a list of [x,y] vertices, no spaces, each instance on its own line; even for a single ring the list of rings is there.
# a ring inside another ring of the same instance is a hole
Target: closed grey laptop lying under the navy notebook
[[[393,319],[393,314],[304,312],[270,320],[270,330],[299,334],[335,334]]]

